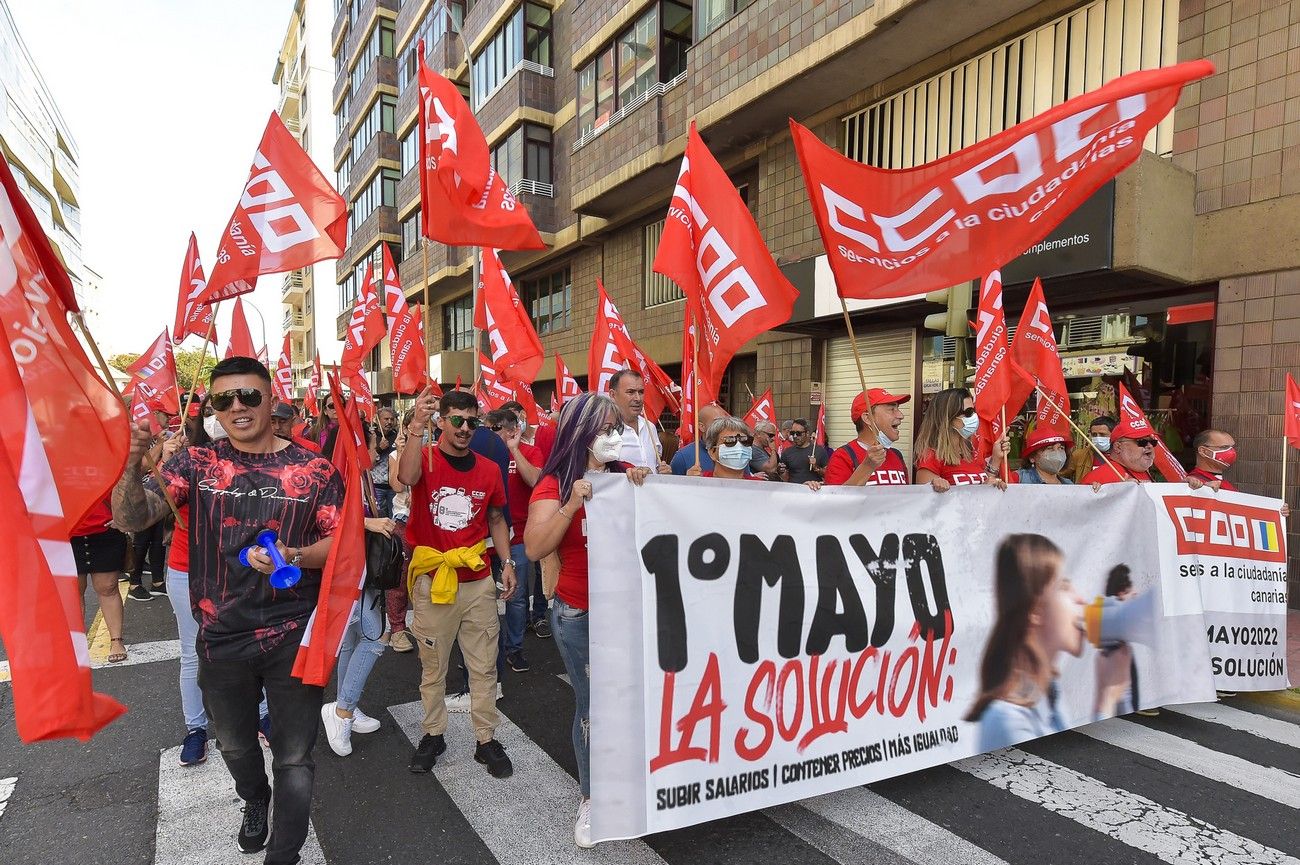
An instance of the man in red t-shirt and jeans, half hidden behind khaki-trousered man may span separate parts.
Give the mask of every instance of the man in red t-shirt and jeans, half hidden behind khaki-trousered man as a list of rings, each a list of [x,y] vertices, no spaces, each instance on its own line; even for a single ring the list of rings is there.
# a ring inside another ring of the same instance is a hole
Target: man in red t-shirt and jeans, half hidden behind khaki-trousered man
[[[515,672],[528,672],[528,658],[524,657],[524,626],[528,623],[528,591],[533,575],[533,563],[524,553],[524,527],[528,524],[528,502],[533,497],[533,485],[542,472],[542,451],[523,438],[521,424],[524,407],[516,414],[507,402],[497,411],[488,412],[489,428],[500,436],[510,449],[510,472],[506,477],[506,499],[510,502],[510,559],[515,562],[515,593],[506,598],[506,628],[502,633],[502,650],[506,663]],[[493,570],[504,566],[506,557],[497,555]]]

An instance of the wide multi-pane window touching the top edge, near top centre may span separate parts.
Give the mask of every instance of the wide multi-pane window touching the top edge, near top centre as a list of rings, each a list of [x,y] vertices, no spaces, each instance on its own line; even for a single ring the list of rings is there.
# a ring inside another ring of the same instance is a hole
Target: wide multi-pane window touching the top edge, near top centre
[[[688,4],[660,0],[578,69],[578,135],[604,126],[614,112],[685,72],[690,22]]]

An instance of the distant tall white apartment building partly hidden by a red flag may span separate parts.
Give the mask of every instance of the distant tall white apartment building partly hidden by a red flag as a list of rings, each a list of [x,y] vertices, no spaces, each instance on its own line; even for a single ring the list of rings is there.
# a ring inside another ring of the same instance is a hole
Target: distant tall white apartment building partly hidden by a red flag
[[[296,0],[272,74],[272,83],[280,86],[276,109],[326,177],[334,168],[335,125],[330,100],[334,64],[329,39],[333,22],[329,0]],[[334,264],[322,261],[283,274],[280,299],[285,311],[282,330],[290,334],[294,393],[302,397],[312,376],[316,351],[325,364],[337,363],[341,354],[334,338],[339,313]],[[272,363],[280,349],[280,345],[268,346]]]

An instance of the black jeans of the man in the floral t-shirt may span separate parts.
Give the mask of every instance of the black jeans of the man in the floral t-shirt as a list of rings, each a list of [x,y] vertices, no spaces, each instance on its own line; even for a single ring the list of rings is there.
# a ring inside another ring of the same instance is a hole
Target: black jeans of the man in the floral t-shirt
[[[257,704],[266,689],[270,709],[270,756],[276,779],[266,865],[292,865],[307,840],[316,764],[312,747],[320,727],[322,688],[290,675],[298,641],[286,640],[250,661],[208,661],[199,646],[199,687],[208,710],[208,732],[216,736],[235,792],[244,801],[266,799],[261,745],[257,743]]]

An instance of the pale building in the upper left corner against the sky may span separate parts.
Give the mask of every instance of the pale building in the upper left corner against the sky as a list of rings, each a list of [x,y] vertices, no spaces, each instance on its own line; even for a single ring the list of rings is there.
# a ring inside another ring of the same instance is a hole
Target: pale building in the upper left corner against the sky
[[[5,0],[0,0],[0,148],[82,297],[87,274],[82,261],[77,142]]]

